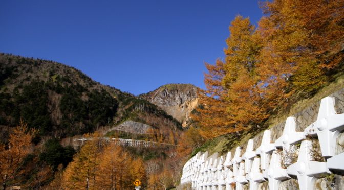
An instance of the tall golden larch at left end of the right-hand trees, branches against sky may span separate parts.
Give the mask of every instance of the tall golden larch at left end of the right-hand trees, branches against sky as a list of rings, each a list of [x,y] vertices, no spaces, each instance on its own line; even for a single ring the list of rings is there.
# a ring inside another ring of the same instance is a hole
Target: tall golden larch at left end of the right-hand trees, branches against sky
[[[225,62],[206,64],[207,90],[201,91],[201,106],[193,114],[206,138],[241,131],[267,118],[256,74],[261,44],[255,40],[255,28],[248,18],[236,16],[229,31]]]

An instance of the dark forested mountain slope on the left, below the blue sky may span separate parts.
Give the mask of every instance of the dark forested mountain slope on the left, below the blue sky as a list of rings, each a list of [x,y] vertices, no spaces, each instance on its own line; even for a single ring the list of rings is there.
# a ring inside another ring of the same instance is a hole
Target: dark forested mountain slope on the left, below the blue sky
[[[0,54],[2,139],[20,118],[38,136],[74,136],[127,119],[155,128],[181,128],[156,105],[102,85],[80,70],[57,62]]]

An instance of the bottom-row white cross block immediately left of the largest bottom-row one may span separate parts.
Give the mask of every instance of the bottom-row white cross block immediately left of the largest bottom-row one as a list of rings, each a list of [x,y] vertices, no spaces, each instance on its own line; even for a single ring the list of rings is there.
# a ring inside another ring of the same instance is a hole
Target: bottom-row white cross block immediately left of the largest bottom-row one
[[[290,178],[287,169],[282,168],[281,152],[272,152],[269,169],[263,172],[263,176],[269,180],[269,189],[279,189],[279,183]]]

